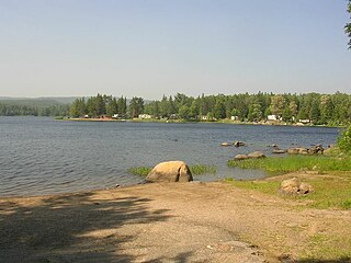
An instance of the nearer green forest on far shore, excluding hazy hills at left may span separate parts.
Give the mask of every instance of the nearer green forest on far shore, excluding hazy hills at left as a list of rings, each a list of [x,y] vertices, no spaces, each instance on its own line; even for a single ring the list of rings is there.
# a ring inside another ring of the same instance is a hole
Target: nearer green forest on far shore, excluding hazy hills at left
[[[182,118],[186,121],[237,119],[262,122],[274,115],[279,121],[295,123],[307,119],[313,124],[344,125],[351,123],[351,95],[335,94],[234,94],[201,95],[177,93],[159,101],[145,103],[143,98],[128,101],[123,96],[98,94],[77,99],[70,106],[72,117],[99,117],[117,114],[122,118],[136,118],[140,114],[154,118]]]

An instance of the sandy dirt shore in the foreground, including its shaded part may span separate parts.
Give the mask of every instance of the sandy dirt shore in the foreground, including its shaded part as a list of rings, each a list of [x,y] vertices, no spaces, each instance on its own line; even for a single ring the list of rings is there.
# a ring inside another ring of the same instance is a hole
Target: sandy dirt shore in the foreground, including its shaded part
[[[302,206],[219,182],[0,198],[0,262],[307,262],[314,235],[351,235],[350,210]]]

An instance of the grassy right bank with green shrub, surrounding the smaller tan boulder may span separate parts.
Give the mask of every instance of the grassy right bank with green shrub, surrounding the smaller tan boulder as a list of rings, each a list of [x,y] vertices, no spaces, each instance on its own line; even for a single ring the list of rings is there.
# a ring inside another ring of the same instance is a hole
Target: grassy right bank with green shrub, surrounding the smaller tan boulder
[[[283,158],[230,160],[228,165],[263,169],[271,174],[295,172],[294,176],[313,185],[315,191],[308,195],[285,196],[285,198],[307,201],[307,206],[314,208],[351,209],[351,126],[338,138],[338,148],[332,149],[326,156],[298,155]],[[305,173],[306,171],[315,172]],[[235,181],[233,179],[226,181],[241,188],[278,195],[283,176],[256,181]]]

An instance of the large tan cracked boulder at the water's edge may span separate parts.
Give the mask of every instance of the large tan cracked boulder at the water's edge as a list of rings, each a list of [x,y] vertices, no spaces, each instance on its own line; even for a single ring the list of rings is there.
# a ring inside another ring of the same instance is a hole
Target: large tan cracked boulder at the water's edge
[[[168,161],[157,164],[146,176],[148,182],[190,182],[193,176],[183,161]]]

